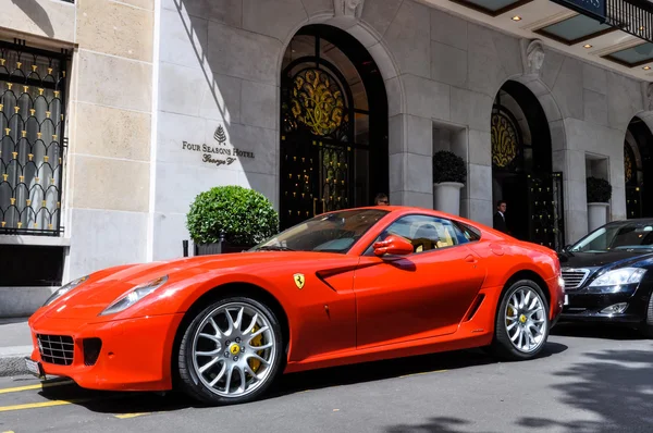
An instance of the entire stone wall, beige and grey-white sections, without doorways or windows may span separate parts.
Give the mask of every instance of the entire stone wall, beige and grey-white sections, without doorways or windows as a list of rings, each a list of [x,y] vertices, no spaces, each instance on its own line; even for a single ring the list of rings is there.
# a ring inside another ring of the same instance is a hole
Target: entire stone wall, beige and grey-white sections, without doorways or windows
[[[252,187],[279,206],[280,69],[309,23],[350,33],[381,70],[393,203],[432,207],[435,144],[468,163],[463,214],[491,224],[492,102],[516,79],[550,123],[567,240],[587,232],[588,158],[613,183],[612,219],[625,216],[623,140],[644,110],[640,83],[545,46],[541,67],[530,67],[529,41],[418,1],[359,3],[349,11],[342,0],[0,0],[3,36],[74,47],[66,279],[181,256],[188,206],[212,186]],[[205,144],[248,154],[217,166],[194,150]]]

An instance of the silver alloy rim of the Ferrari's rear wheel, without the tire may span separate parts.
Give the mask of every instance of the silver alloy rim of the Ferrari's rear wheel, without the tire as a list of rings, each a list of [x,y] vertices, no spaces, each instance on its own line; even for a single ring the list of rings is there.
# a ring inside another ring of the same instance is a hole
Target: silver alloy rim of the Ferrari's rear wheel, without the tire
[[[505,311],[505,323],[513,346],[522,352],[532,352],[544,344],[546,310],[540,295],[529,286],[521,286],[510,296]]]

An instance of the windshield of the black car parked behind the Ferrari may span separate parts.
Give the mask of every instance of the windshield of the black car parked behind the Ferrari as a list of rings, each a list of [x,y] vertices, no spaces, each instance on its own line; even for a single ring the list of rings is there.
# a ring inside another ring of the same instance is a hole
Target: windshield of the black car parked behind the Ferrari
[[[653,249],[653,221],[623,222],[596,228],[569,248],[572,252]]]

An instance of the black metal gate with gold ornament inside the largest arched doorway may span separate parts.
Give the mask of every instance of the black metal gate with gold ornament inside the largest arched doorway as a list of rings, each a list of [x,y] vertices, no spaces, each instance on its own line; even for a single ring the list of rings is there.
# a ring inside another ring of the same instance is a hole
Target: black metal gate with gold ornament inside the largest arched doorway
[[[322,61],[322,63],[325,63]],[[287,77],[282,97],[282,226],[349,206],[354,134],[350,97],[335,69]]]

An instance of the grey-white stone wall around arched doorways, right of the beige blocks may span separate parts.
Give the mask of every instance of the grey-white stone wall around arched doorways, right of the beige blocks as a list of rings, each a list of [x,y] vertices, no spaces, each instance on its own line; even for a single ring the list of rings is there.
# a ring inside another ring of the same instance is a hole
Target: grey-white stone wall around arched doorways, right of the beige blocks
[[[360,3],[347,14],[333,0],[163,0],[155,257],[180,253],[188,205],[213,185],[249,186],[278,205],[281,59],[308,23],[349,32],[381,69],[393,203],[433,206],[434,134],[446,134],[468,163],[463,214],[491,224],[491,109],[501,86],[516,79],[538,96],[550,122],[554,170],[564,171],[567,240],[587,232],[588,153],[606,159],[612,218],[625,216],[623,140],[643,109],[638,82],[546,47],[543,64],[531,70],[528,41],[416,1]],[[184,140],[214,144],[218,126],[227,145],[255,160],[215,168],[182,150]]]

